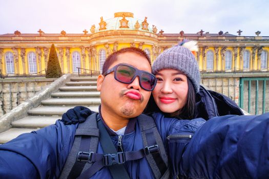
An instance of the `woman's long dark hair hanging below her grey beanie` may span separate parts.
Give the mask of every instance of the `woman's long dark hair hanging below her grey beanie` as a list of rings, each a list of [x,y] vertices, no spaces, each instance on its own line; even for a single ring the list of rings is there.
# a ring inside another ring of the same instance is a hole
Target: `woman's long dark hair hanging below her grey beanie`
[[[195,116],[195,91],[191,80],[187,77],[188,81],[188,94],[187,94],[187,102],[186,104],[179,110],[175,111],[174,113],[163,113],[157,106],[156,102],[154,101],[153,95],[151,94],[150,100],[144,109],[144,114],[151,114],[153,112],[161,112],[164,114],[165,117],[170,118],[177,118],[177,119],[194,119]]]

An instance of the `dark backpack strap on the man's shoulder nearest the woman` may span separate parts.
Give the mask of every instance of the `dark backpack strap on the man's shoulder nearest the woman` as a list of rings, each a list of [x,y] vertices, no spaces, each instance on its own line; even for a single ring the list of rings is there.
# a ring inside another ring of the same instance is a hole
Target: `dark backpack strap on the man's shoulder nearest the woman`
[[[142,114],[138,116],[137,121],[139,123],[144,146],[153,148],[157,145],[159,147],[159,152],[153,152],[146,155],[147,161],[150,164],[155,178],[169,178],[170,172],[168,156],[165,152],[165,148],[154,119]]]

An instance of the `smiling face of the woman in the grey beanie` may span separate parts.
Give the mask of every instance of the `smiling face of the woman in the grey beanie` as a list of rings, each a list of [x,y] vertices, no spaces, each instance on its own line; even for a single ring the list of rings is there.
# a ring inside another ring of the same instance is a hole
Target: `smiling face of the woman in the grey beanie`
[[[174,113],[187,102],[187,76],[180,71],[167,69],[156,74],[157,84],[152,94],[157,106],[164,113]]]

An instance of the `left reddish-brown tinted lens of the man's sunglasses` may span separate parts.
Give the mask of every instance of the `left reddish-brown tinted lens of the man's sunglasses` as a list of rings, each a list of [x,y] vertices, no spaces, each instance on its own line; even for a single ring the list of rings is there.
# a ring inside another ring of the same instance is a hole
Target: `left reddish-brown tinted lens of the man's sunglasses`
[[[130,83],[135,75],[135,69],[131,66],[119,65],[116,70],[117,80],[123,83]]]

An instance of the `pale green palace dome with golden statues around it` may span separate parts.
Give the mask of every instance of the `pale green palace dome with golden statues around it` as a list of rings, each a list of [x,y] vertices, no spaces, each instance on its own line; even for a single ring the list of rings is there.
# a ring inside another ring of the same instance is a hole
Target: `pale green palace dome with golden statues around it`
[[[104,26],[104,24],[106,26]],[[154,33],[152,25],[149,25],[147,22],[147,17],[145,17],[144,20],[134,18],[134,14],[131,12],[116,12],[114,13],[114,18],[106,20],[103,20],[101,17],[99,26],[95,29],[95,32],[109,30],[139,30]],[[157,29],[155,33],[156,31]]]

